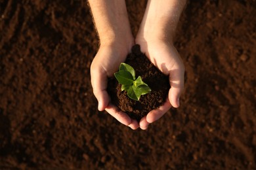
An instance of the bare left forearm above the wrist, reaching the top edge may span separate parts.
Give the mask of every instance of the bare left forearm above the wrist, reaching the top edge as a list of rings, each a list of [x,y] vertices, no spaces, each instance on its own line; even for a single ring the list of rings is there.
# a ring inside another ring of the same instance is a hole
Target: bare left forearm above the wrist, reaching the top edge
[[[100,43],[132,41],[124,0],[89,0]]]

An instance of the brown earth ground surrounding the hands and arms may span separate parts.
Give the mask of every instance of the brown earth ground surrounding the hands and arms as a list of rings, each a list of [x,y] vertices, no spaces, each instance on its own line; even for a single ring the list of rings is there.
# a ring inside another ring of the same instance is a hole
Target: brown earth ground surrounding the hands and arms
[[[188,1],[179,109],[133,131],[98,112],[87,1],[0,0],[0,169],[255,169],[255,0]],[[134,35],[146,1],[127,1]]]

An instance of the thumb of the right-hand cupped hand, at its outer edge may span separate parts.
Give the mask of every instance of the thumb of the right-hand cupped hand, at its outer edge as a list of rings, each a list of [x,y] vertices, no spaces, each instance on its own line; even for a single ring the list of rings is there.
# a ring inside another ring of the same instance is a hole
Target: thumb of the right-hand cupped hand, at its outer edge
[[[184,69],[176,69],[169,74],[171,89],[169,90],[169,101],[173,107],[179,107],[179,98],[184,88]]]

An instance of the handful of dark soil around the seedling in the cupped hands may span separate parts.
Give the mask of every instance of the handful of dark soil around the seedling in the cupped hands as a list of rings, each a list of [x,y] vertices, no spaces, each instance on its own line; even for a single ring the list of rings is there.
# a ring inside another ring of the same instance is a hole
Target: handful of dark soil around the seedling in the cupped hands
[[[166,101],[170,88],[169,78],[163,75],[146,58],[145,54],[140,52],[139,44],[133,46],[125,63],[135,69],[136,77],[141,76],[152,91],[146,95],[141,95],[139,101],[135,101],[127,96],[127,92],[121,92],[121,84],[117,82],[116,78],[111,78],[108,81],[108,93],[114,105],[139,122],[150,110],[160,107]]]

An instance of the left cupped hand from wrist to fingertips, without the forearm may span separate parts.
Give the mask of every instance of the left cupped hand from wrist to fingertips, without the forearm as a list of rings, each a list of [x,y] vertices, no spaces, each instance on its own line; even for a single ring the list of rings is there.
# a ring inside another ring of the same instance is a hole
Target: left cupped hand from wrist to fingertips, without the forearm
[[[133,43],[132,41],[129,43],[117,41],[102,43],[91,64],[91,84],[93,93],[98,100],[98,110],[106,110],[122,124],[137,129],[138,122],[112,105],[107,92],[108,77],[113,76],[120,63],[125,61]]]

